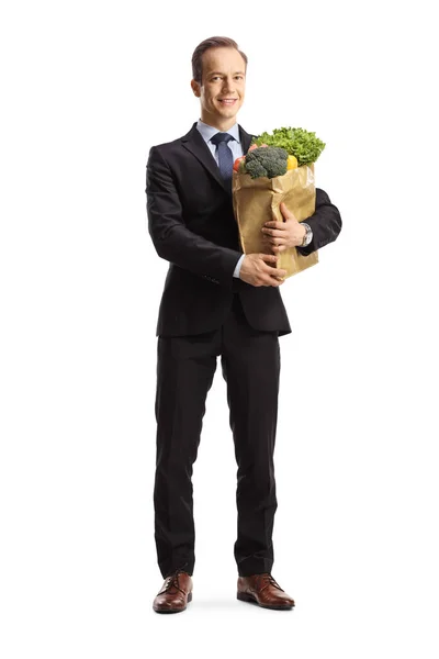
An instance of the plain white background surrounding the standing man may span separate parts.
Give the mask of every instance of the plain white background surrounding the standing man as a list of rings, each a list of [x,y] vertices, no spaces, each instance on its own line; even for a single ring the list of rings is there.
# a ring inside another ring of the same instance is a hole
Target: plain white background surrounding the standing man
[[[430,2],[9,2],[1,12],[4,659],[438,657],[437,29]],[[194,465],[194,599],[151,603],[150,146],[199,119],[194,47],[249,58],[238,121],[315,131],[339,238],[282,295],[273,576],[236,601],[218,368]],[[436,628],[436,630],[435,630]],[[155,647],[155,651],[153,648]]]

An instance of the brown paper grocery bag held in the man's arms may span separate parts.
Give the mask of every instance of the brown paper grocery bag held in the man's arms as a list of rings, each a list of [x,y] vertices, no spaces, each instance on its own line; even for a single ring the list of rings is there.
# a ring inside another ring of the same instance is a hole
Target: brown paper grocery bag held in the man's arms
[[[252,179],[249,174],[233,172],[233,205],[244,254],[273,254],[261,228],[273,215],[278,222],[283,221],[279,208],[282,201],[299,222],[314,213],[314,163],[272,179],[266,176]],[[286,279],[317,263],[318,250],[303,256],[291,247],[279,254],[278,268],[286,270]]]

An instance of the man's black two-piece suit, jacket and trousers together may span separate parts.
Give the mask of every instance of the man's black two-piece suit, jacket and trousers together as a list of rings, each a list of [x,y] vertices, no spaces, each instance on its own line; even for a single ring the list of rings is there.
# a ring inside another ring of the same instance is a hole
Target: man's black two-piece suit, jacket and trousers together
[[[239,126],[244,154],[252,135]],[[205,399],[221,355],[238,463],[238,572],[270,571],[277,509],[273,470],[279,336],[291,333],[280,291],[233,277],[243,253],[230,193],[196,129],[151,147],[148,227],[170,261],[157,323],[156,544],[165,576],[194,566],[192,465]],[[268,220],[271,220],[269,217]],[[317,188],[304,255],[336,239],[338,209]]]

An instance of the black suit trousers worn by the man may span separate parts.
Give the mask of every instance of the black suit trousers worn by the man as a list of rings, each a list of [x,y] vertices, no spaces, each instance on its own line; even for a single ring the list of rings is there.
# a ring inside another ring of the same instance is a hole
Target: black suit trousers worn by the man
[[[196,336],[158,337],[157,459],[154,487],[158,566],[193,573],[192,471],[205,401],[221,355],[229,423],[238,466],[238,574],[270,572],[278,507],[273,451],[278,421],[280,347],[278,332],[248,324],[238,294],[223,326]]]

